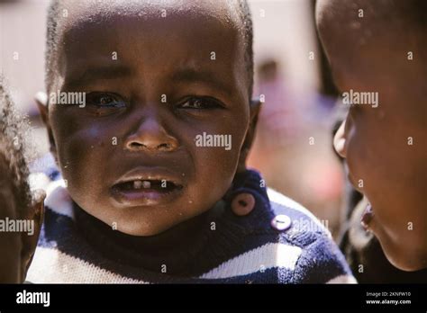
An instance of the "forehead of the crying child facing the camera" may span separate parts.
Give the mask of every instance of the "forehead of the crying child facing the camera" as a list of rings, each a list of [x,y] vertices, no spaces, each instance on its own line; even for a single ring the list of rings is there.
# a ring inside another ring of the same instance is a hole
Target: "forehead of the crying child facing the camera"
[[[237,78],[246,73],[244,45],[239,31],[234,27],[227,27],[232,22],[224,20],[224,15],[217,12],[228,9],[229,4],[214,3],[217,5],[203,2],[198,7],[184,7],[179,6],[182,2],[173,1],[167,3],[169,6],[156,4],[145,11],[141,6],[132,8],[133,11],[126,11],[126,6],[120,6],[118,10],[106,7],[105,10],[110,13],[99,7],[95,7],[93,11],[91,2],[73,6],[68,16],[76,16],[72,18],[73,21],[66,21],[63,38],[60,40],[59,59],[67,63],[67,70],[62,73],[64,84],[68,86],[72,85],[69,84],[72,81],[85,81],[81,76],[87,72],[87,68],[100,67],[101,63],[108,65],[109,71],[113,70],[111,51],[117,51],[120,58],[113,64],[127,68],[128,77],[138,77],[141,72],[145,75],[150,69],[150,73],[155,72],[162,78],[175,77],[177,73],[184,72],[185,76],[182,78],[181,75],[180,81],[189,81],[191,78],[208,84],[207,80],[210,80],[209,85],[219,82],[221,84],[215,85],[229,86],[217,88],[224,92],[234,89],[232,86],[239,81]],[[161,16],[163,8],[166,8],[166,18]],[[78,13],[77,10],[82,11]],[[194,15],[191,15],[192,11],[195,11]],[[147,15],[140,14],[141,12]],[[215,16],[213,12],[218,15]],[[92,14],[94,18],[86,18],[86,13]],[[105,19],[108,14],[114,16]],[[225,42],[224,38],[227,38]],[[164,49],[166,45],[168,49]],[[82,46],[85,47],[84,50],[81,49]],[[215,56],[218,54],[226,58],[216,61],[216,58],[212,58],[213,52]],[[203,73],[211,74],[202,75]]]

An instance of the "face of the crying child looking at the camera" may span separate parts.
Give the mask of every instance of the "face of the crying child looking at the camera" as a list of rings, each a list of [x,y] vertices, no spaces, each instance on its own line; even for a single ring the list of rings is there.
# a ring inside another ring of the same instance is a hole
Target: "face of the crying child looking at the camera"
[[[137,5],[68,5],[50,93],[85,92],[86,107],[50,104],[48,126],[73,200],[151,236],[223,197],[254,113],[227,4]],[[204,132],[231,149],[196,147]]]

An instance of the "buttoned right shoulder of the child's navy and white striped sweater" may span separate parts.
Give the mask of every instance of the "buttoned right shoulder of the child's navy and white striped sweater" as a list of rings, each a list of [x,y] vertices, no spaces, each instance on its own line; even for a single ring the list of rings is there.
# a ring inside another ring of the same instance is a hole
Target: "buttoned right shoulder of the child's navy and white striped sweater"
[[[310,211],[255,185],[246,180],[232,194],[251,193],[255,208],[245,217],[231,212],[225,216],[218,231],[234,249],[201,278],[246,283],[356,282],[330,232]],[[221,245],[221,240],[215,241],[214,246]]]

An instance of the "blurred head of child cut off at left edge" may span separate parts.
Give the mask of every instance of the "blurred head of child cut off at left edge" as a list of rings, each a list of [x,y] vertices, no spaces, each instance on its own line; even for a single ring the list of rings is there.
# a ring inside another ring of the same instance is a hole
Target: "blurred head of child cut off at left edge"
[[[28,127],[14,110],[1,78],[0,129],[0,283],[23,282],[39,237],[43,199],[30,192]],[[23,220],[25,232],[16,227]]]

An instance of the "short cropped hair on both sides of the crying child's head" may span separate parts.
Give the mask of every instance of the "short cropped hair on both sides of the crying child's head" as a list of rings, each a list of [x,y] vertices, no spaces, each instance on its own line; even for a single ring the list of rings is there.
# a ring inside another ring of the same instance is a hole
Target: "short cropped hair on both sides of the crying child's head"
[[[216,0],[215,0],[216,1]],[[240,17],[241,24],[238,25],[238,29],[241,32],[244,42],[245,49],[245,65],[247,67],[248,75],[248,93],[249,97],[252,96],[253,91],[253,76],[254,76],[254,65],[253,65],[253,26],[252,16],[250,13],[250,7],[247,0],[227,0],[236,5],[237,13]],[[60,18],[60,4],[62,0],[51,0],[48,9],[48,21],[47,21],[47,38],[46,38],[46,53],[45,53],[45,67],[46,67],[46,90],[50,91],[50,85],[53,83],[53,66],[54,60],[57,58],[56,53],[58,51],[58,25]]]

